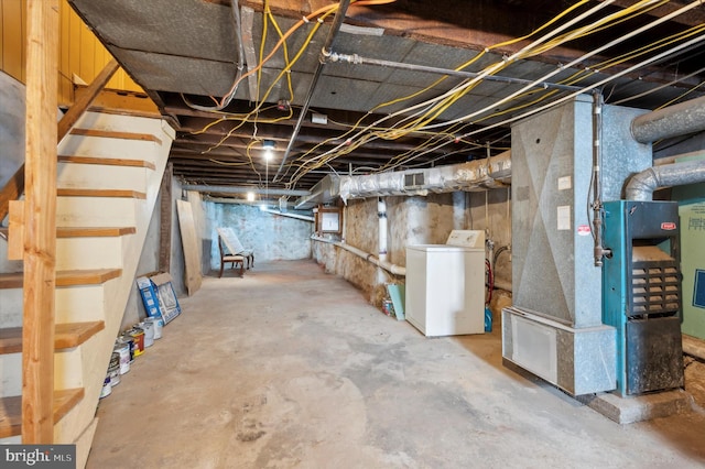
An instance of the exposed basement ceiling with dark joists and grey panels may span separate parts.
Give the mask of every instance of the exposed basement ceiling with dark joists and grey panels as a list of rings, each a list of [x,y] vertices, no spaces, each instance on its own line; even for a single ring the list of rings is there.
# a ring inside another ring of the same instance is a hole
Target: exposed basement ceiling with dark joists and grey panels
[[[423,167],[497,154],[510,146],[509,124],[502,122],[571,92],[542,87],[522,91],[525,80],[543,77],[549,77],[545,81],[578,89],[604,80],[598,89],[608,103],[643,109],[703,95],[699,84],[705,75],[702,65],[705,47],[696,40],[705,39],[703,30],[697,30],[705,13],[702,6],[691,2],[652,2],[655,8],[644,9],[643,14],[517,61],[511,59],[512,54],[540,34],[512,40],[539,30],[562,11],[575,7],[541,34],[555,31],[590,9],[599,9],[564,32],[578,26],[589,29],[603,18],[629,12],[637,1],[352,2],[330,50],[362,63],[328,61],[311,96],[310,85],[319,65],[334,10],[322,23],[312,18],[293,31],[285,41],[288,55],[279,48],[270,61],[260,64],[260,51],[267,56],[279,41],[272,21],[286,32],[304,15],[337,2],[270,0],[272,14],[268,21],[264,2],[254,0],[69,0],[69,3],[176,128],[171,159],[175,176],[186,183],[307,189],[327,172]],[[239,21],[232,4],[239,6]],[[603,45],[690,4],[695,8],[601,50]],[[265,23],[267,37],[262,41]],[[658,46],[660,41],[665,43],[692,26],[695,29],[686,39],[623,56]],[[690,47],[664,53],[688,40],[694,42]],[[242,73],[261,66],[261,75],[241,79],[232,100],[219,112],[189,106],[191,102],[213,107],[214,99],[220,99],[230,89],[237,76],[240,45],[246,62]],[[599,53],[579,59],[598,47]],[[662,58],[634,67],[661,53]],[[370,65],[364,59],[377,62]],[[573,61],[572,66],[565,66]],[[384,66],[380,65],[382,62]],[[393,64],[430,68],[403,69]],[[458,94],[454,92],[455,87],[467,83],[467,77],[438,80],[442,75],[430,72],[452,70],[464,64],[462,70],[470,74],[484,74],[497,64],[502,66],[491,77],[495,80],[478,80]],[[610,79],[621,73],[623,76]],[[499,78],[514,81],[497,81]],[[422,105],[444,94],[453,95],[452,101],[437,107]],[[308,98],[310,110],[301,119],[301,129],[290,145],[301,108]],[[314,112],[323,120],[313,122]],[[455,119],[458,124],[443,124]],[[369,128],[360,132],[366,126]],[[404,131],[391,132],[391,128]],[[274,159],[269,163],[263,160],[264,140],[276,145]],[[282,164],[288,146],[291,154],[286,154],[286,163]],[[274,179],[280,164],[284,166],[282,175]],[[268,177],[262,177],[262,170]]]

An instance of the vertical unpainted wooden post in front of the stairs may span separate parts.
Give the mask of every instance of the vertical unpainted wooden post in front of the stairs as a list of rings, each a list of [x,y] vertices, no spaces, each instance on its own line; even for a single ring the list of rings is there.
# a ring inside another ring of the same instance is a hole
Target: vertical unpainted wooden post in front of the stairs
[[[22,443],[54,440],[58,0],[28,1]]]

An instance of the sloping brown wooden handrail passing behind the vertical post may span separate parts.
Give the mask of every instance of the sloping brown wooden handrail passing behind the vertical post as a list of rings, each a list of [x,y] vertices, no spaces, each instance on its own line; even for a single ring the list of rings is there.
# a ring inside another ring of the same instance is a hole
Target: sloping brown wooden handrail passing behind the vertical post
[[[57,123],[57,144],[61,143],[72,127],[74,127],[84,112],[86,112],[90,103],[96,99],[98,94],[100,94],[102,88],[106,87],[108,81],[110,81],[110,78],[112,78],[112,75],[115,75],[118,68],[120,68],[118,61],[113,58],[108,62],[98,76],[93,80],[90,86],[88,86],[85,91],[79,95],[74,105],[68,108],[66,113]],[[0,190],[0,220],[7,217],[10,200],[17,200],[23,192],[24,163],[22,163],[22,166],[20,166],[17,173],[14,173],[10,181],[8,181],[4,187]]]

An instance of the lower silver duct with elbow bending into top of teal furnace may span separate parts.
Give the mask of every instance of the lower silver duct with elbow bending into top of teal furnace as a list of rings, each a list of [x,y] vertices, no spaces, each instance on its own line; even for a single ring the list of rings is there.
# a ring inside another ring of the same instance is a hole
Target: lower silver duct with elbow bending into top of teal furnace
[[[649,167],[634,174],[627,184],[627,200],[652,200],[659,187],[705,182],[705,161],[687,161]]]

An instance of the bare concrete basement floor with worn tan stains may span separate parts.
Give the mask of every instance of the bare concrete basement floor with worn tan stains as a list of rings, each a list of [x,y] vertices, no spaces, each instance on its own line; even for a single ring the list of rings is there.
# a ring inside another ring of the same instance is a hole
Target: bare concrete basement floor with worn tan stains
[[[100,402],[88,468],[705,467],[702,407],[620,426],[503,368],[497,327],[427,339],[313,261],[181,305]]]

